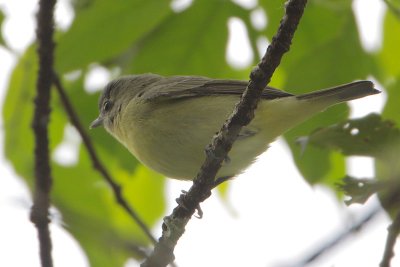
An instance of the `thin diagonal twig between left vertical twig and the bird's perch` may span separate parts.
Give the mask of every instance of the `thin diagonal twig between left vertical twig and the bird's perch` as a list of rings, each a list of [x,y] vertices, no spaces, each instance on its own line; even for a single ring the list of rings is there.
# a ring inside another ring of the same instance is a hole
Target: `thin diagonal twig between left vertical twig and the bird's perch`
[[[71,101],[69,100],[67,94],[65,93],[64,87],[61,84],[61,81],[56,73],[53,74],[54,85],[57,89],[58,94],[60,95],[60,99],[64,108],[70,118],[72,125],[75,126],[77,131],[79,132],[83,144],[85,145],[89,156],[93,162],[93,167],[100,172],[103,178],[106,180],[108,185],[111,187],[112,191],[114,192],[115,199],[117,203],[131,216],[131,218],[139,225],[142,231],[146,234],[146,236],[150,239],[150,241],[154,244],[157,240],[153,237],[150,230],[144,223],[144,221],[140,218],[140,216],[136,213],[136,211],[128,204],[128,202],[122,196],[121,186],[115,182],[115,180],[111,177],[108,173],[107,169],[101,163],[97,153],[94,149],[91,139],[87,135],[86,131],[82,127],[82,123],[79,120],[78,115],[76,114]]]

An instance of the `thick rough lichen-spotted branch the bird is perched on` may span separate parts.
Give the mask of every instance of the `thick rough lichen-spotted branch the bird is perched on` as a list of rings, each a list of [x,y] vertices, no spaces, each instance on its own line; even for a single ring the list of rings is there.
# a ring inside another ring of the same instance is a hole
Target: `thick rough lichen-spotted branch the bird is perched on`
[[[206,148],[206,159],[190,190],[177,200],[178,206],[164,218],[163,232],[152,254],[142,266],[166,266],[174,260],[173,250],[200,203],[211,195],[215,176],[243,126],[254,117],[261,93],[271,80],[285,52],[289,50],[294,32],[307,0],[289,0],[277,34],[273,37],[261,62],[253,69],[250,82],[234,112]]]

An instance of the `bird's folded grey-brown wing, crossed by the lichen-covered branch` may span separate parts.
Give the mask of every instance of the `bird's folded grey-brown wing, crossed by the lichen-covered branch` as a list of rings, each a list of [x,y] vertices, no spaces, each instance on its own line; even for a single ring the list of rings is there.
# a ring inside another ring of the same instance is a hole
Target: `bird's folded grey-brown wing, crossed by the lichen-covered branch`
[[[143,90],[141,97],[149,101],[162,101],[212,95],[243,94],[247,82],[236,80],[215,80],[200,76],[165,77],[151,83]],[[263,99],[276,99],[292,96],[287,92],[266,87],[262,93]]]

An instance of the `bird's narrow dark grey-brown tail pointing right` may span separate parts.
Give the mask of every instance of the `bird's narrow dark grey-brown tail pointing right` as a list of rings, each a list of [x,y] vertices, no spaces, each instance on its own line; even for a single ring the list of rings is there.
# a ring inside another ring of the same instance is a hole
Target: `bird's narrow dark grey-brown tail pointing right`
[[[379,94],[370,81],[357,81],[297,96],[299,100],[337,104],[368,95]],[[325,101],[324,101],[325,100]]]

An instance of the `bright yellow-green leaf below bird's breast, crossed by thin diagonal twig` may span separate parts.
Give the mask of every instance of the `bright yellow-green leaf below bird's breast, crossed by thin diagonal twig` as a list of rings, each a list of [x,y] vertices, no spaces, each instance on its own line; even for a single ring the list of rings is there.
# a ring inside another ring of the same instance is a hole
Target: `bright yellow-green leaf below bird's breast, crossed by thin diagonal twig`
[[[110,155],[105,160],[112,158]],[[164,212],[164,179],[144,167],[134,175],[113,171],[125,200],[151,227]],[[56,165],[53,202],[66,228],[88,254],[91,266],[122,266],[129,257],[140,258],[131,245],[146,246],[148,239],[116,204],[108,185],[93,172],[86,151],[73,167]]]

